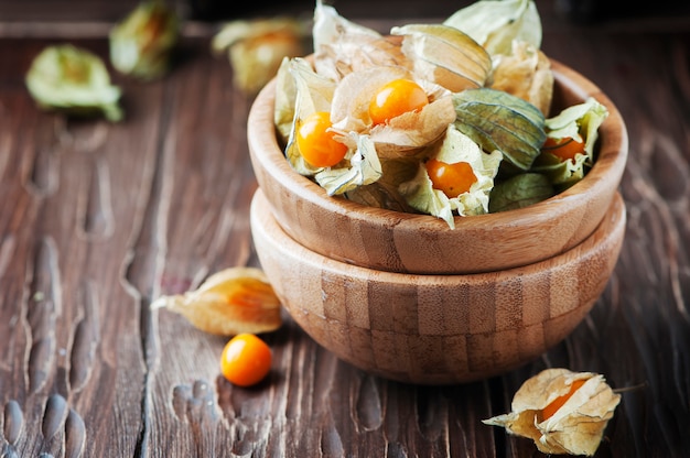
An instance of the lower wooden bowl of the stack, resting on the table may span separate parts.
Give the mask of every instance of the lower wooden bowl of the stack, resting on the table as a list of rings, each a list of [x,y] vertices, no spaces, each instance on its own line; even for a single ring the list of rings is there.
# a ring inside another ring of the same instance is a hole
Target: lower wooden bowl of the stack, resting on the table
[[[293,319],[355,367],[419,384],[504,373],[564,339],[602,294],[625,219],[616,193],[594,232],[562,254],[495,272],[424,275],[326,258],[283,231],[260,189],[251,204],[259,260]]]

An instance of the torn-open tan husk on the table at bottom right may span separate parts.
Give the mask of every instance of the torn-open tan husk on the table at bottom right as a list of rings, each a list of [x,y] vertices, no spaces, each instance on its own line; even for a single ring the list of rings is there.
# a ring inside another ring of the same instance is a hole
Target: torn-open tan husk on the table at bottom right
[[[584,383],[550,417],[543,418],[543,411],[570,394],[576,381]],[[613,392],[601,374],[547,369],[527,380],[515,393],[510,413],[483,423],[531,438],[545,454],[592,456],[619,402],[621,395]]]

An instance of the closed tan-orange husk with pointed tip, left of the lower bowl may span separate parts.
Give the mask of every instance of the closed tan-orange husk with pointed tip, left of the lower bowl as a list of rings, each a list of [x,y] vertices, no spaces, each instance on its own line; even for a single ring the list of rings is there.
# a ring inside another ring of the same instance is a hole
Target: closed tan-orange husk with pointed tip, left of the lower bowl
[[[161,296],[151,307],[179,313],[205,332],[234,336],[278,329],[280,305],[263,271],[230,268],[213,274],[197,290]]]

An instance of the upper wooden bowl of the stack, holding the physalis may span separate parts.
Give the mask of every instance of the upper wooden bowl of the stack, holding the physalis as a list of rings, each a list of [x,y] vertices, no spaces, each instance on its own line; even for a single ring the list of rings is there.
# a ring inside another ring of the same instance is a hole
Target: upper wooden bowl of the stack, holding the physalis
[[[591,81],[552,62],[553,107],[596,98],[610,116],[600,128],[594,167],[570,189],[524,209],[456,217],[455,229],[432,216],[367,207],[295,173],[273,124],[274,81],[258,95],[247,137],[255,174],[280,227],[326,258],[390,272],[476,273],[531,264],[587,238],[604,217],[627,157],[627,132],[613,102]]]

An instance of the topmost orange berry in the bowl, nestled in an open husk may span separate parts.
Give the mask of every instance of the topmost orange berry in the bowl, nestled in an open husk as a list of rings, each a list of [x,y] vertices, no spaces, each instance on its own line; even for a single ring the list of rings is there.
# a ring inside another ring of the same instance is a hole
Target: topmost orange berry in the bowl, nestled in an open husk
[[[400,115],[419,111],[429,105],[429,98],[417,83],[393,79],[381,87],[369,103],[369,117],[374,124],[382,124]]]

